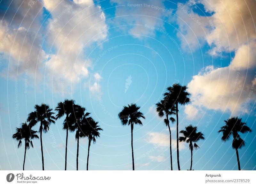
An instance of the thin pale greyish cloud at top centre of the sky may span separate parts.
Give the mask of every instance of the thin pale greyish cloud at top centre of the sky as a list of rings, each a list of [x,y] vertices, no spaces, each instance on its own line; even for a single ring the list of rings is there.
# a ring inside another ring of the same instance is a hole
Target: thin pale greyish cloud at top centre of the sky
[[[172,14],[172,10],[165,8],[163,0],[111,0],[111,2],[119,5],[116,8],[115,23],[131,25],[128,33],[140,39],[142,38],[140,35],[154,36],[154,27],[163,29],[162,20],[167,21]],[[127,27],[120,27],[120,29],[127,29]]]

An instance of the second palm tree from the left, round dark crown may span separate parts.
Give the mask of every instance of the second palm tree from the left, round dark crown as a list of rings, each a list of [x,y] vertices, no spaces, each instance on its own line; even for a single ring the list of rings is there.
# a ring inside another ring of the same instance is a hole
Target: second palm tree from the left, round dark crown
[[[42,131],[45,133],[49,130],[50,125],[55,123],[54,112],[49,105],[42,103],[41,105],[35,105],[35,111],[28,114],[27,121],[30,122],[30,127],[40,123],[39,132],[40,132],[40,142],[41,142],[41,153],[42,153],[42,166],[44,170],[44,153],[43,153],[43,142],[42,142]]]

